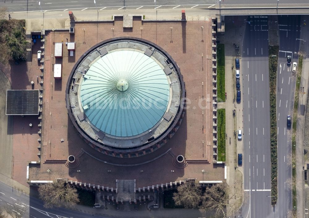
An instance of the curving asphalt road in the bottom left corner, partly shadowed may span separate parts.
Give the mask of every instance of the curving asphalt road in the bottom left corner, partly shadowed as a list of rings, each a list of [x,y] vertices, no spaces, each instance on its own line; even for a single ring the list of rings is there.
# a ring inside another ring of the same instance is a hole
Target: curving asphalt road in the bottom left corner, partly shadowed
[[[108,218],[106,216],[92,216],[90,214],[64,208],[45,209],[43,208],[43,202],[39,199],[31,196],[29,197],[29,195],[14,190],[12,187],[9,187],[2,182],[0,182],[0,204],[7,204],[10,207],[11,205],[14,205],[16,207],[14,209],[17,209],[16,211],[24,211],[25,214],[23,215],[23,218]]]

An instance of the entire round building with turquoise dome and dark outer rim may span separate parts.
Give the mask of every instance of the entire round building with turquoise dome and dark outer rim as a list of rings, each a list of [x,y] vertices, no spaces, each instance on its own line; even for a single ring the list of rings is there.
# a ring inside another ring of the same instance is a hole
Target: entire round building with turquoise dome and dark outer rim
[[[139,157],[170,139],[184,115],[185,88],[176,62],[147,40],[103,41],[79,58],[66,106],[80,136],[114,157]]]

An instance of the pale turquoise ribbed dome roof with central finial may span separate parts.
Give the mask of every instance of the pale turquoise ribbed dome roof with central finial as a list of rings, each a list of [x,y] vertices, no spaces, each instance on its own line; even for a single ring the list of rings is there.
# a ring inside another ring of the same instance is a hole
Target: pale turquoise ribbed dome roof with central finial
[[[145,54],[118,50],[91,65],[80,90],[89,121],[112,136],[150,130],[164,115],[169,82],[161,66]]]

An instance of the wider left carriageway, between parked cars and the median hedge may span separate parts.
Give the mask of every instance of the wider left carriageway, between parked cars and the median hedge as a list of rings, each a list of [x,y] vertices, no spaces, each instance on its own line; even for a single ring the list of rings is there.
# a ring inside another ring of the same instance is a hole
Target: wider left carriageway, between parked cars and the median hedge
[[[268,16],[248,16],[243,37],[244,204],[241,217],[274,217],[270,204]],[[250,22],[250,23],[249,23]]]

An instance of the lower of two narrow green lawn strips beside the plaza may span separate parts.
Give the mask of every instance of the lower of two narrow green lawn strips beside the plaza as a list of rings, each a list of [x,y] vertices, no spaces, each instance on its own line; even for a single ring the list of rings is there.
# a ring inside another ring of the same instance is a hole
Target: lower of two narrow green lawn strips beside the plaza
[[[218,161],[226,161],[225,155],[225,109],[217,110]]]

